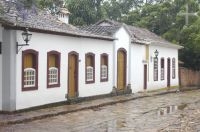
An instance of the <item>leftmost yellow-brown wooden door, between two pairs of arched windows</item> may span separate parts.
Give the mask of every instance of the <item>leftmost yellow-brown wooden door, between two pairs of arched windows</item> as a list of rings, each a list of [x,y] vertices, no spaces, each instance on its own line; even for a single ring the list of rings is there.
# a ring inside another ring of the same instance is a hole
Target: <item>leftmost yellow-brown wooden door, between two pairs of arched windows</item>
[[[78,96],[78,55],[70,53],[68,56],[68,98]]]

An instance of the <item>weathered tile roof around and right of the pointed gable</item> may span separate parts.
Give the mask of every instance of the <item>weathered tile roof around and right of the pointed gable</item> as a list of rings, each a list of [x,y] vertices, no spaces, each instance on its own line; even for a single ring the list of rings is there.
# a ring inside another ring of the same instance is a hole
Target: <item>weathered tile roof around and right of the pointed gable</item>
[[[95,34],[111,36],[114,35],[117,32],[117,30],[122,26],[127,30],[129,35],[131,36],[132,42],[134,43],[138,44],[156,43],[157,45],[161,46],[168,45],[170,47],[181,48],[181,46],[172,44],[145,28],[130,26],[109,19],[101,20],[91,26],[81,27],[81,29]]]

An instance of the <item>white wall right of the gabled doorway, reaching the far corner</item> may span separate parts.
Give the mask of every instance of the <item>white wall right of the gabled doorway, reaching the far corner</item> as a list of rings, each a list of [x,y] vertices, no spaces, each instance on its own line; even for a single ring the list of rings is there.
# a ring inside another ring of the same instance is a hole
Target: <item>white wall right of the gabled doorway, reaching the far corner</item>
[[[158,50],[158,80],[154,81],[155,50]],[[161,58],[164,58],[164,80],[161,80]],[[146,60],[145,45],[131,45],[131,84],[132,91],[144,90],[144,65],[147,65],[147,90],[167,87],[167,59],[170,58],[170,86],[178,86],[178,50],[161,46],[149,46],[149,60]],[[172,58],[175,58],[175,78],[172,78]]]

